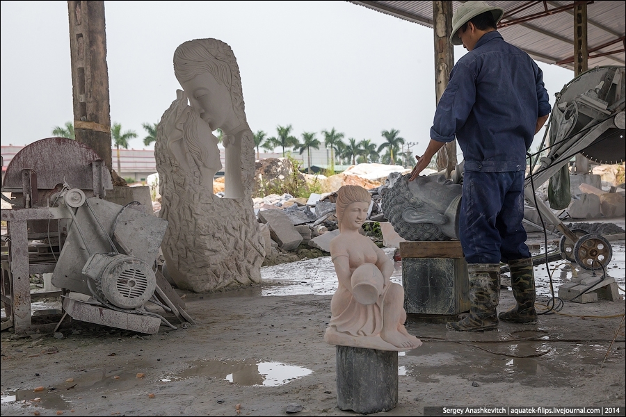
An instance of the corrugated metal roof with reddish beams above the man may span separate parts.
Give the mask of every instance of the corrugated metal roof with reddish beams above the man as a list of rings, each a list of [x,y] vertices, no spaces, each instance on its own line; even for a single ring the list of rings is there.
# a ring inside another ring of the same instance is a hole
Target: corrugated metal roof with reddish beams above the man
[[[432,1],[351,1],[380,13],[399,17],[423,26],[433,27]],[[465,1],[452,1],[456,10]],[[526,51],[534,59],[574,69],[574,11],[573,1],[488,1],[491,6],[504,9],[501,24],[535,15],[536,13],[571,6],[560,13],[552,13],[528,22],[499,27],[504,39]],[[545,3],[545,4],[544,4]],[[511,15],[512,10],[527,6]],[[623,1],[590,1],[587,4],[588,67],[625,65],[626,8]],[[606,45],[601,47],[602,45]],[[598,48],[601,47],[601,48]],[[597,49],[597,50],[594,50]],[[612,53],[611,53],[612,52]],[[607,54],[611,53],[611,54]],[[604,56],[597,56],[607,54]],[[563,62],[569,59],[572,62]]]

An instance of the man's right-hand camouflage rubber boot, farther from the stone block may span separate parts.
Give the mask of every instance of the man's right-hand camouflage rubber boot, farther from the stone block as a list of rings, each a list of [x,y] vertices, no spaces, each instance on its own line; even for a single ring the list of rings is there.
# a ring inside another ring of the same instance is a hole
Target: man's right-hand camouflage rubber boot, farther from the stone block
[[[531,258],[509,261],[511,268],[511,288],[515,297],[515,307],[500,313],[500,320],[514,323],[534,325],[537,322],[535,310],[535,276],[533,273],[533,260]]]

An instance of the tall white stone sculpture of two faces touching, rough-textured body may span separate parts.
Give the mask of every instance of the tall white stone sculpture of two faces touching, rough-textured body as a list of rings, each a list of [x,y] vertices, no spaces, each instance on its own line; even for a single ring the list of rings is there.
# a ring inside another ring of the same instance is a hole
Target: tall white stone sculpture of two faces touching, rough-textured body
[[[174,72],[183,90],[161,117],[154,155],[169,226],[161,243],[164,272],[182,289],[220,291],[261,281],[265,257],[252,208],[254,136],[243,106],[232,49],[216,39],[181,44]],[[225,147],[225,198],[213,193]]]

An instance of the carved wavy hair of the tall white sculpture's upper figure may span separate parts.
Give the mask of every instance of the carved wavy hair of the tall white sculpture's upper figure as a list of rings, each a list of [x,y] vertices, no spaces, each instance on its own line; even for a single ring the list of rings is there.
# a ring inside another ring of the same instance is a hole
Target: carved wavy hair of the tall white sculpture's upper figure
[[[230,91],[234,111],[245,121],[241,76],[230,46],[221,40],[207,38],[188,40],[176,48],[174,74],[179,83],[207,72]]]

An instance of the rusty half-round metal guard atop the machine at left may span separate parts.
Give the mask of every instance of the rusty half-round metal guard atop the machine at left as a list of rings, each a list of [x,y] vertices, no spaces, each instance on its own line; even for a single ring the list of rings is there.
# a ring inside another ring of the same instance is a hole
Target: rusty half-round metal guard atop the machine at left
[[[37,188],[52,190],[66,182],[72,188],[93,190],[91,163],[102,158],[87,145],[67,138],[46,138],[24,147],[10,161],[4,175],[5,192],[22,193],[22,170],[33,170]],[[105,190],[113,190],[111,174],[104,170]]]

